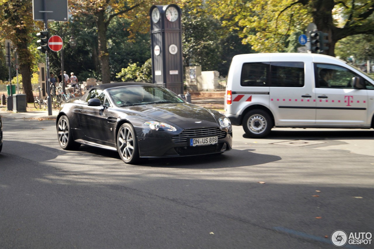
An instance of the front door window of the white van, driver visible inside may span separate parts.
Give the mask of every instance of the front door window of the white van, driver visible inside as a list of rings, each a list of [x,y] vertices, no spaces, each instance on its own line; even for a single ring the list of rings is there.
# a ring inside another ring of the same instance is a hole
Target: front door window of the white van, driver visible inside
[[[315,64],[316,87],[319,88],[339,88],[350,89],[352,86],[352,78],[358,76],[348,68],[331,65],[331,64]],[[367,85],[368,82],[365,82]],[[367,87],[370,87],[367,85]]]

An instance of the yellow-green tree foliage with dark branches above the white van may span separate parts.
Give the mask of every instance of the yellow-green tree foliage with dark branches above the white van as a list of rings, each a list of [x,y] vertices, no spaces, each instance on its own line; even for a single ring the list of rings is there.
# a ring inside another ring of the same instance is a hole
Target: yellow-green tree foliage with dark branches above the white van
[[[239,30],[243,43],[260,52],[284,52],[288,38],[314,22],[328,33],[326,53],[334,55],[335,43],[355,34],[373,34],[374,2],[367,0],[209,0],[211,12],[223,27]],[[338,22],[333,15],[340,14]]]

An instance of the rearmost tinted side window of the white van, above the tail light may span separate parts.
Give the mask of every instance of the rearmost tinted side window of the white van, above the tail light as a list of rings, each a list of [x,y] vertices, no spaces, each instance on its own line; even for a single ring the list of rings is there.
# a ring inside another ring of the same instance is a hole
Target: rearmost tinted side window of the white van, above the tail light
[[[241,86],[267,86],[269,62],[244,63],[240,76]]]

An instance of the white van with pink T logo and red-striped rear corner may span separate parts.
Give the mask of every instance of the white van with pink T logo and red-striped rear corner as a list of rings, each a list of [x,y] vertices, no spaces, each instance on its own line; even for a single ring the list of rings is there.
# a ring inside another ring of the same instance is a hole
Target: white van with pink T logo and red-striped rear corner
[[[374,80],[341,59],[310,53],[236,55],[225,111],[252,138],[272,127],[374,127]]]

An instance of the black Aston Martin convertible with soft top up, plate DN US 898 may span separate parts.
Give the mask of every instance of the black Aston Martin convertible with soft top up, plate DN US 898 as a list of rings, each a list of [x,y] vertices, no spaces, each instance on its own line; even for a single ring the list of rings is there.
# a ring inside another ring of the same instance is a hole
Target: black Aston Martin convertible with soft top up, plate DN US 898
[[[222,113],[189,104],[184,95],[149,83],[93,86],[61,105],[58,141],[64,150],[81,144],[117,150],[125,163],[140,157],[223,153],[232,147],[232,126]]]

